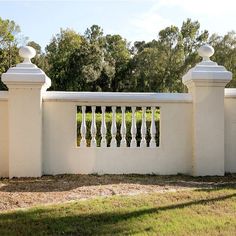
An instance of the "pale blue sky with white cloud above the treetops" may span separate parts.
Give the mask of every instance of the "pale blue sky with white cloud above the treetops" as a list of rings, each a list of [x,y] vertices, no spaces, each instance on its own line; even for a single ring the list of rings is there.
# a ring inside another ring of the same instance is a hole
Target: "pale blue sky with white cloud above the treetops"
[[[21,34],[44,48],[60,28],[83,34],[97,24],[105,34],[120,34],[127,41],[149,41],[170,25],[187,18],[201,30],[223,35],[236,31],[235,0],[0,0],[0,17],[14,20]]]

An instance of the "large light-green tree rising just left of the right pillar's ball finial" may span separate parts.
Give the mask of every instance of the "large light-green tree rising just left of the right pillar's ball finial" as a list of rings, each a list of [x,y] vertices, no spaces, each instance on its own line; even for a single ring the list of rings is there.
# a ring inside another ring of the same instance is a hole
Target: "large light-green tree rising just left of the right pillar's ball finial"
[[[135,42],[131,63],[131,88],[135,91],[182,92],[181,78],[199,57],[197,48],[207,40],[208,32],[200,32],[200,24],[190,19],[179,29],[167,27],[158,39]]]

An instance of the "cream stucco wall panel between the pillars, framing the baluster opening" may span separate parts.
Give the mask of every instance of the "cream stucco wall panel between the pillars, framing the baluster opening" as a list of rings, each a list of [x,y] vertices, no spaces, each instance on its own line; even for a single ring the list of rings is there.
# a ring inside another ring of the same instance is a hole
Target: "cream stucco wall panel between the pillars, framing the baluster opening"
[[[77,105],[78,102],[68,101],[65,98],[61,101],[53,99],[43,102],[44,174],[191,173],[192,103],[190,101],[178,102],[176,99],[172,102],[162,101],[155,104],[160,107],[161,112],[160,146],[157,148],[77,147]]]

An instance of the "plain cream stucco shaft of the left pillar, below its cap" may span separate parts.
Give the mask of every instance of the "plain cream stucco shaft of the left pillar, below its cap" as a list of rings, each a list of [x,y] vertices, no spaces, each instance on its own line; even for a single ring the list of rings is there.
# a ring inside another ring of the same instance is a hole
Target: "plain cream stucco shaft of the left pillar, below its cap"
[[[41,90],[12,88],[9,95],[9,176],[41,176]]]

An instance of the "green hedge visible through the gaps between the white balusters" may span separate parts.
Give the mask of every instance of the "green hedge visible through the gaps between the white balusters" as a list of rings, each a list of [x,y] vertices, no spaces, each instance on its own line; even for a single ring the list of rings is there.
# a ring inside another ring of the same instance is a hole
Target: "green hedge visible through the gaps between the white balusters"
[[[136,126],[137,126],[137,143],[139,145],[140,141],[141,141],[141,125],[142,125],[142,111],[141,110],[137,110],[136,111]],[[106,112],[105,115],[105,119],[106,119],[106,126],[107,126],[107,140],[108,140],[108,144],[111,141],[111,124],[112,124],[112,113],[111,112]],[[130,141],[131,141],[131,125],[132,125],[132,113],[130,111],[127,111],[125,113],[125,120],[126,120],[126,130],[127,130],[127,135],[126,135],[126,139],[127,139],[127,144],[128,146],[130,145]],[[147,109],[146,111],[146,124],[147,124],[147,136],[146,136],[146,140],[147,143],[149,143],[150,139],[151,139],[151,135],[150,135],[150,125],[151,125],[151,120],[152,120],[152,113],[150,109]],[[156,142],[157,145],[159,144],[159,120],[160,120],[160,110],[157,109],[155,112],[155,124],[156,124]],[[81,112],[78,111],[77,113],[77,144],[79,145],[80,143],[80,139],[81,139],[81,135],[80,135],[80,125],[82,122],[82,114]],[[90,144],[90,140],[91,140],[91,135],[90,135],[90,126],[91,126],[91,122],[92,122],[92,113],[91,112],[87,112],[86,113],[86,126],[87,126],[87,134],[86,134],[86,140],[88,145]],[[121,140],[121,135],[120,135],[120,127],[121,127],[121,122],[122,122],[122,114],[121,112],[118,110],[116,113],[116,123],[117,123],[117,141],[118,141],[118,146]],[[100,135],[100,129],[101,129],[101,123],[102,123],[102,114],[101,113],[96,113],[96,126],[97,126],[97,136],[96,136],[96,140],[98,143],[98,146],[100,145],[101,142],[101,135]]]

